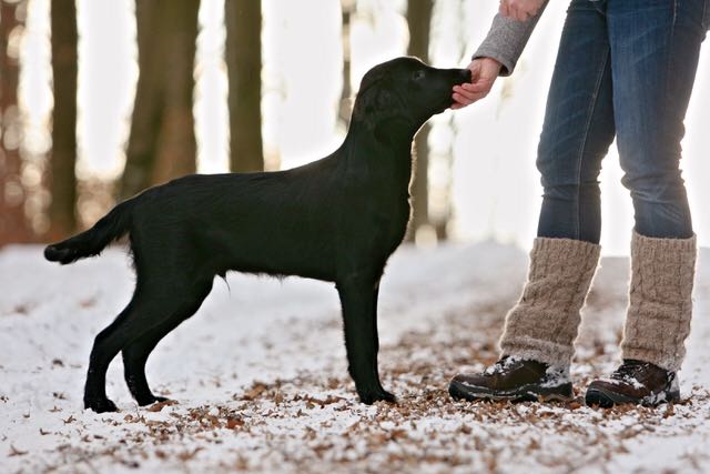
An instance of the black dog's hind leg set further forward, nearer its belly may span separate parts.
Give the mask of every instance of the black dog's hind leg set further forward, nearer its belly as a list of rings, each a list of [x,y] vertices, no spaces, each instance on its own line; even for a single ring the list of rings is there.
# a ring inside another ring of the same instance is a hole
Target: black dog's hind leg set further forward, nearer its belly
[[[148,380],[145,379],[145,362],[153,349],[155,349],[165,335],[200,309],[211,290],[212,279],[205,278],[202,283],[194,283],[192,291],[190,291],[187,295],[181,296],[181,300],[184,301],[182,307],[176,310],[162,323],[151,327],[138,339],[130,342],[121,351],[123,355],[125,383],[139,405],[144,406],[166,400],[163,396],[155,396],[153,392],[151,392]]]

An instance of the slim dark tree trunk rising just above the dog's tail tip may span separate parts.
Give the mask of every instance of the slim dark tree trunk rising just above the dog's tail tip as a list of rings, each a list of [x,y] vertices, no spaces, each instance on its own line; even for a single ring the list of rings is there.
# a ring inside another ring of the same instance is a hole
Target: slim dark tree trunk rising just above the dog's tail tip
[[[77,228],[77,7],[74,0],[52,0],[52,151],[49,162],[51,240]]]

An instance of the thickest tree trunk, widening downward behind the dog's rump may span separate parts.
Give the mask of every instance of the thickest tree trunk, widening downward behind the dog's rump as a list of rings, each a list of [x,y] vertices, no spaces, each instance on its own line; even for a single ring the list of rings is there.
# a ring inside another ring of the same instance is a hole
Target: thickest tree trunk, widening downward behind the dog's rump
[[[139,80],[121,198],[194,173],[199,0],[136,0]]]

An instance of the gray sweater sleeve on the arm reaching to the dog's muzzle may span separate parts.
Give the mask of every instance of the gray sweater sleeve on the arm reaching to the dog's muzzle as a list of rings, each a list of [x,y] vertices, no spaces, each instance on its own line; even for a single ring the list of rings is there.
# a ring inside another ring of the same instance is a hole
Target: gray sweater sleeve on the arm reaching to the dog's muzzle
[[[493,58],[503,64],[500,75],[510,75],[515,69],[518,58],[523,53],[525,46],[532,34],[542,11],[547,7],[547,1],[540,11],[528,21],[520,22],[496,14],[488,36],[480,44],[473,59]]]

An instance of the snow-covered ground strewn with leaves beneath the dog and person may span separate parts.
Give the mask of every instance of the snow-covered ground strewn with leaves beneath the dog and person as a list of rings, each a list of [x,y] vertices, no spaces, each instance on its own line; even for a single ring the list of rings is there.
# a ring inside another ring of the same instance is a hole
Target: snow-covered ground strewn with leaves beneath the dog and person
[[[710,472],[710,252],[701,252],[683,402],[600,411],[453,402],[448,379],[496,357],[526,254],[400,249],[381,291],[381,373],[397,405],[357,403],[332,285],[231,274],[149,361],[138,407],[120,357],[82,410],[93,336],[132,290],[123,252],[60,268],[0,252],[0,472]],[[578,395],[617,363],[628,261],[605,259],[585,311]],[[581,400],[581,399],[580,399]]]

